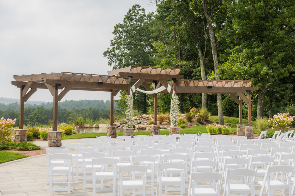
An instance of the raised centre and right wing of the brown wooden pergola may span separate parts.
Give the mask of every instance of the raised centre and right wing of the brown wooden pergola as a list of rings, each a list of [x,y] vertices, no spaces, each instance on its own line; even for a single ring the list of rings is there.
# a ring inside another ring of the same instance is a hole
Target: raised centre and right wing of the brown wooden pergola
[[[165,87],[157,93],[226,93],[239,105],[239,123],[242,124],[242,101],[248,104],[248,126],[251,126],[251,92],[258,90],[252,87],[252,81],[232,80],[181,80],[179,68],[129,66],[108,71],[110,76],[125,76],[135,84],[127,91],[132,94],[142,85],[147,91],[153,89],[147,83],[153,83],[154,90]],[[146,92],[147,93],[147,92]],[[150,93],[154,98],[154,125],[157,124],[157,93]],[[245,93],[246,96],[245,96]],[[239,97],[237,97],[237,96]]]

